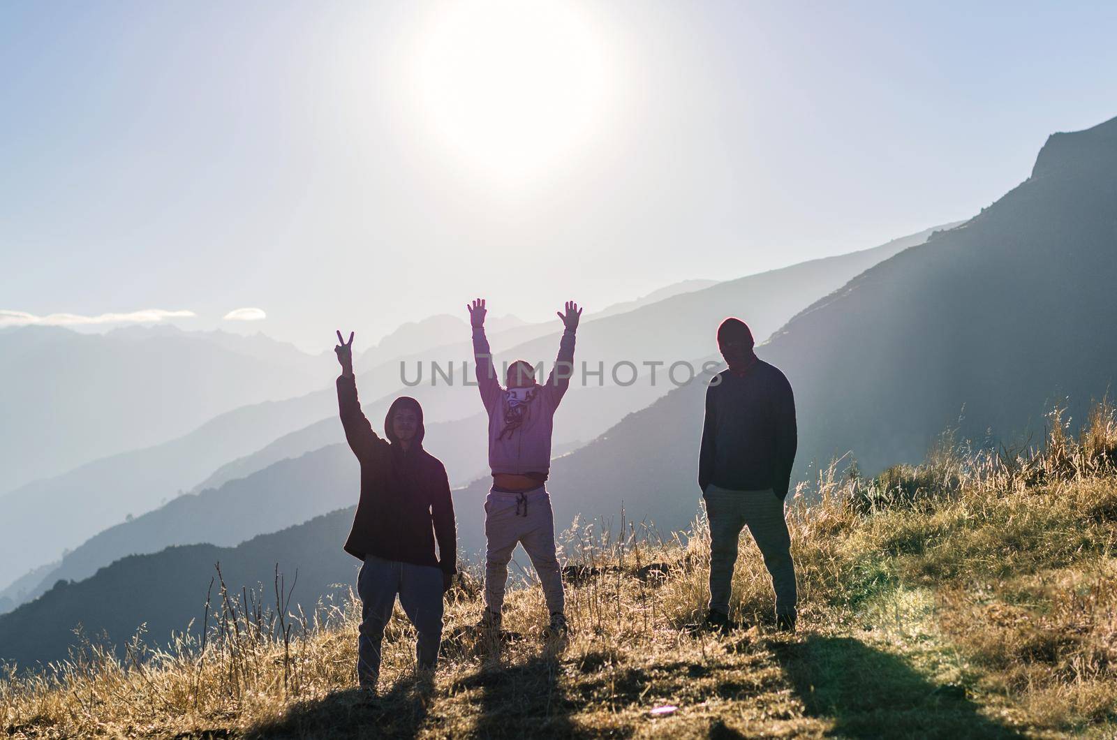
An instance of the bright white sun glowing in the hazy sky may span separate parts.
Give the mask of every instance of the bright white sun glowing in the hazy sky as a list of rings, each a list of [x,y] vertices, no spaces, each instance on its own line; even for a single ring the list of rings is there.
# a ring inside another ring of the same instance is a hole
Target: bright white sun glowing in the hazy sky
[[[431,134],[506,186],[576,154],[609,103],[608,50],[573,3],[439,6],[418,56],[416,92]]]

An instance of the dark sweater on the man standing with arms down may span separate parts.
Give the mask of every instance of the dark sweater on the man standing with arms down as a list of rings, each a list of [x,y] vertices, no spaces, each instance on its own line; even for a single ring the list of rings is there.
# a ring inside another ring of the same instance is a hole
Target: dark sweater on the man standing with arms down
[[[698,487],[772,488],[783,499],[796,444],[795,399],[784,374],[762,360],[743,374],[724,370],[706,389]]]

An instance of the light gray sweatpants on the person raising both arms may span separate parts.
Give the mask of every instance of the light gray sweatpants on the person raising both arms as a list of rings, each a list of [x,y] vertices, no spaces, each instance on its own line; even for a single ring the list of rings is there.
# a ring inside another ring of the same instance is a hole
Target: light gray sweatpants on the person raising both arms
[[[508,582],[508,561],[523,544],[543,585],[551,614],[565,609],[562,568],[555,552],[555,519],[544,486],[523,493],[489,490],[485,499],[485,606],[500,614]]]

